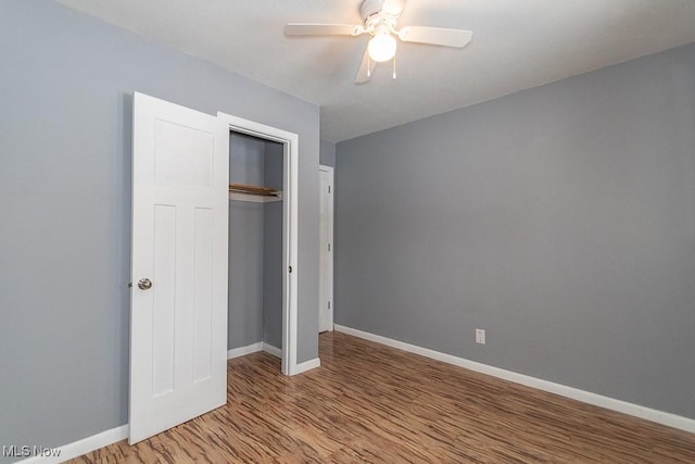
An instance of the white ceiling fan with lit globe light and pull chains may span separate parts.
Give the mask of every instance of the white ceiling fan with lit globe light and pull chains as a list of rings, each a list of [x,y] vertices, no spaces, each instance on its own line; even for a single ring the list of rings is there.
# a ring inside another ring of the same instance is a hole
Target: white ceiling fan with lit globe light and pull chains
[[[364,24],[288,23],[285,26],[285,35],[357,37],[369,34],[371,38],[355,77],[357,84],[371,79],[377,63],[395,57],[397,46],[395,37],[404,42],[456,48],[466,47],[472,39],[473,33],[470,30],[426,26],[405,26],[396,29],[404,5],[405,0],[364,0],[359,7]],[[395,77],[395,71],[393,77]]]

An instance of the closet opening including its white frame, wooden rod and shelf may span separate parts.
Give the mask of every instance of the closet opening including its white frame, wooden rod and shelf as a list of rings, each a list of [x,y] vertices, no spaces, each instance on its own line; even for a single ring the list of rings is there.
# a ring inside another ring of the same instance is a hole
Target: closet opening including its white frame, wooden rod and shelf
[[[228,350],[266,351],[294,375],[299,137],[217,117],[229,127]]]

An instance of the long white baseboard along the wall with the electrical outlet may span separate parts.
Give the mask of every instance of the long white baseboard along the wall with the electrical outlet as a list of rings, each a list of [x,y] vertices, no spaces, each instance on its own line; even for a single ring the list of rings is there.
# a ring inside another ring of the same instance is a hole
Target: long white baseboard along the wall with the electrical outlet
[[[403,341],[393,340],[391,338],[382,337],[380,335],[357,330],[357,329],[341,326],[338,324],[334,325],[334,329],[336,331],[342,331],[343,334],[364,338],[365,340],[369,340],[369,341],[376,341],[377,343],[397,348],[400,350],[408,351],[410,353],[419,354],[426,358],[430,358],[432,360],[442,361],[444,363],[453,364],[459,367],[465,367],[470,371],[488,374],[493,377],[503,378],[505,380],[514,381],[516,384],[526,385],[527,387],[532,387],[539,390],[548,391],[551,393],[559,394],[561,397],[571,398],[572,400],[578,400],[584,403],[593,404],[595,406],[605,407],[607,410],[618,411],[623,414],[629,414],[643,419],[656,422],[658,424],[679,428],[681,430],[695,432],[695,419],[692,419],[688,417],[666,413],[664,411],[653,410],[650,407],[641,406],[639,404],[629,403],[622,400],[616,400],[614,398],[592,393],[591,391],[580,390],[578,388],[555,384],[548,380],[543,380],[543,379],[531,377],[528,375],[518,374],[511,371],[505,371],[500,367],[477,363],[475,361],[469,361],[464,358],[441,353],[439,351],[430,350],[428,348],[417,347],[415,344],[405,343]]]

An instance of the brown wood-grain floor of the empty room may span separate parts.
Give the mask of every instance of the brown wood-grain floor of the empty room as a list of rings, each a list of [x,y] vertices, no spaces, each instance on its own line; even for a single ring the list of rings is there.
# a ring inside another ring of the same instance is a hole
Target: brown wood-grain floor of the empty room
[[[226,406],[75,463],[694,463],[695,434],[340,333],[285,377],[228,362]]]

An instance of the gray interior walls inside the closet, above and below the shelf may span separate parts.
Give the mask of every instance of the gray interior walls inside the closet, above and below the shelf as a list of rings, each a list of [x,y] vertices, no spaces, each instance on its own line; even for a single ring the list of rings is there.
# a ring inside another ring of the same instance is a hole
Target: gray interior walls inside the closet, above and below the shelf
[[[230,133],[229,181],[282,190],[281,143]],[[229,200],[228,349],[282,348],[282,201]]]

